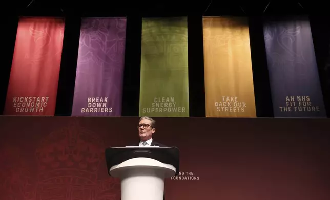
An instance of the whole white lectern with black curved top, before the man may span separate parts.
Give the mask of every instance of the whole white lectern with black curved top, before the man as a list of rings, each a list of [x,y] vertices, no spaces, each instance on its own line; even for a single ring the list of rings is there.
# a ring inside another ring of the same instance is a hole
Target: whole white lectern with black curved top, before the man
[[[121,180],[121,200],[162,200],[165,178],[179,172],[176,147],[110,147],[106,160]]]

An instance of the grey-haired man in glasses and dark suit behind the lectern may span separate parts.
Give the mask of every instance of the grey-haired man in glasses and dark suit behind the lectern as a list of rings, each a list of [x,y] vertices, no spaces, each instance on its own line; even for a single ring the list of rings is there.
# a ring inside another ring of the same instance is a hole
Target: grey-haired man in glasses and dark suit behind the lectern
[[[156,132],[156,121],[151,117],[141,117],[137,126],[140,142],[130,146],[159,146],[166,147],[153,140],[152,136]]]

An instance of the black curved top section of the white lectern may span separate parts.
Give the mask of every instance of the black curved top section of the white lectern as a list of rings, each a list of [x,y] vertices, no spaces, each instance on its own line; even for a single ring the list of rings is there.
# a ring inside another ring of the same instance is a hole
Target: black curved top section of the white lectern
[[[109,147],[106,149],[106,162],[108,173],[110,168],[132,158],[151,158],[159,162],[170,164],[175,167],[175,175],[179,173],[179,149],[177,147],[158,147],[158,146],[127,146]]]

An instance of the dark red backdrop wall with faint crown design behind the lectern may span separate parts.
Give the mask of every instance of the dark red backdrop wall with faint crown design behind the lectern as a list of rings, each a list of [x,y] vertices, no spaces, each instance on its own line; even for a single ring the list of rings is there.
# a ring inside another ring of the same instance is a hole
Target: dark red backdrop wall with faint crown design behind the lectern
[[[156,120],[154,139],[180,149],[184,172],[166,200],[330,199],[329,119]],[[0,199],[119,200],[104,150],[136,142],[137,123],[0,117]]]

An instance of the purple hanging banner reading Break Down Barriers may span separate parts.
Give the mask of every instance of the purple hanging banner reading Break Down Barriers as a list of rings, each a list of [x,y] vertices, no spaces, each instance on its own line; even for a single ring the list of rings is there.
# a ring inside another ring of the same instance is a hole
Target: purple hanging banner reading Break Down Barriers
[[[121,116],[126,17],[83,18],[72,116]]]

